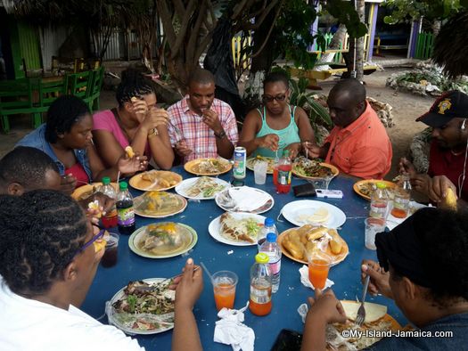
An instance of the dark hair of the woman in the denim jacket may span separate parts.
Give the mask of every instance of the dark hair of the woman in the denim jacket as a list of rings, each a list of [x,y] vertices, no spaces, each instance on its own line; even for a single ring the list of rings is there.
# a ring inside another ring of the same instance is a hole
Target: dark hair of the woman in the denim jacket
[[[45,140],[56,143],[58,135],[68,133],[78,121],[89,115],[86,103],[77,96],[62,95],[52,102],[47,111],[45,123]]]

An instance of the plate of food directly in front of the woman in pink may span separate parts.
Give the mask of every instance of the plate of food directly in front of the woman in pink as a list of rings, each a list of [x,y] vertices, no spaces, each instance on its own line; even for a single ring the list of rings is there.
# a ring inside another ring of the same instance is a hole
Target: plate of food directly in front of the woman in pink
[[[182,175],[153,169],[132,176],[128,183],[135,189],[148,192],[172,189],[180,182],[182,182]]]

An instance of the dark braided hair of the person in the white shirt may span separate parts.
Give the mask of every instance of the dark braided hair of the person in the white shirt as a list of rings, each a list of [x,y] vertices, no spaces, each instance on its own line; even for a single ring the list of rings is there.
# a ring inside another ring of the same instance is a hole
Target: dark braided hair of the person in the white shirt
[[[0,274],[23,295],[50,290],[86,239],[86,216],[62,192],[0,195]]]

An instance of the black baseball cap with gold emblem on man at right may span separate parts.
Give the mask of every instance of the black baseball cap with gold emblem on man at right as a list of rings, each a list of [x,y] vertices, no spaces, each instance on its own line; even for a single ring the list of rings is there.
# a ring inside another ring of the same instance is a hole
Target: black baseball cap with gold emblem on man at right
[[[429,127],[445,126],[452,118],[468,117],[468,95],[458,90],[442,94],[431,106],[429,112],[416,119]]]

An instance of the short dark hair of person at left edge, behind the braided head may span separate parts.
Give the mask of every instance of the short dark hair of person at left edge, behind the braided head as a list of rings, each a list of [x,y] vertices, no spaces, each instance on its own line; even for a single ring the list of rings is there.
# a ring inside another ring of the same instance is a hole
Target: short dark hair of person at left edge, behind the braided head
[[[59,173],[53,159],[36,148],[19,146],[0,159],[0,180],[4,184],[15,182],[29,189],[41,187],[49,170]]]

